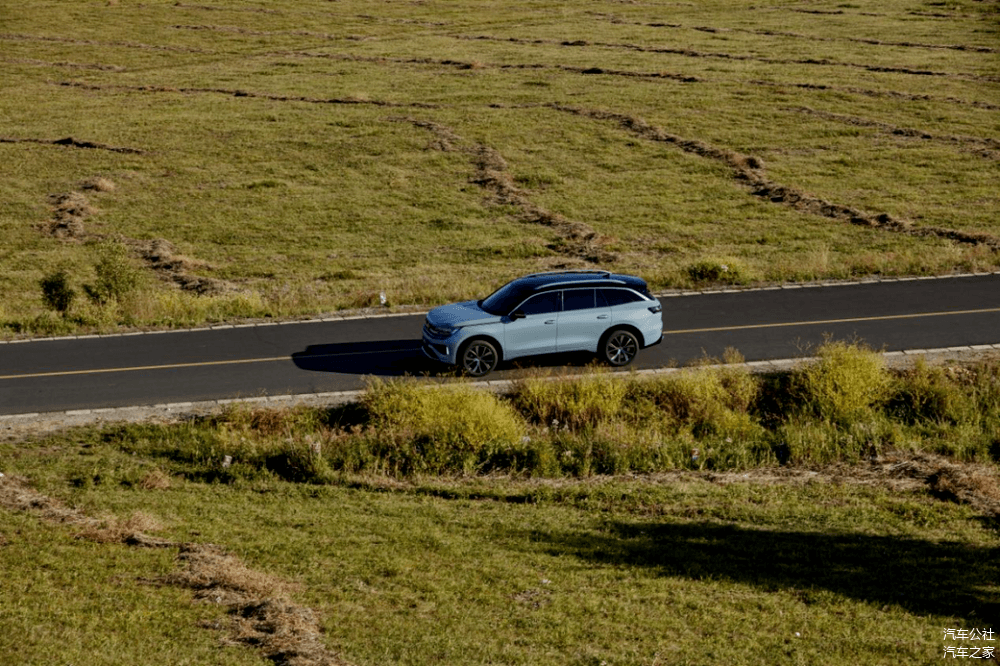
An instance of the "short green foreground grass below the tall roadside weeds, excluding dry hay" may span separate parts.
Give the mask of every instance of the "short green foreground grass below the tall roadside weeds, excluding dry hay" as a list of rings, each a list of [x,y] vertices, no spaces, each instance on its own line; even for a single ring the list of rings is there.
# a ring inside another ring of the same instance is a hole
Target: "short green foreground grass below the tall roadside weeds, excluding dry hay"
[[[389,487],[175,475],[146,490],[136,481],[157,461],[103,439],[5,445],[4,469],[91,515],[141,511],[163,536],[225,545],[291,582],[356,664],[936,663],[942,628],[988,625],[1000,595],[995,530],[923,491],[696,474]],[[173,549],[0,515],[4,661],[162,663],[167,650],[171,663],[257,663],[210,648],[222,634],[195,623],[217,607],[144,583]]]

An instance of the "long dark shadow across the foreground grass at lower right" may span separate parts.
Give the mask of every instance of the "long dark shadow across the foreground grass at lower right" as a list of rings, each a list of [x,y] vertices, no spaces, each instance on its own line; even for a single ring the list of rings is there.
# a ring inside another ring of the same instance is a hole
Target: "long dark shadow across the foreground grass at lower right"
[[[601,532],[532,532],[548,552],[659,575],[824,594],[969,619],[1000,617],[1000,548],[903,536],[823,534],[718,523],[614,522]]]

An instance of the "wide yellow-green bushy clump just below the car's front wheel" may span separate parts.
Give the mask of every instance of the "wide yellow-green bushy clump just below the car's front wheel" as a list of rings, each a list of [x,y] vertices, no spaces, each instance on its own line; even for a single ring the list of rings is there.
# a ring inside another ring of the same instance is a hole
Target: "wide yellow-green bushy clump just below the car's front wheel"
[[[525,423],[507,402],[465,384],[372,381],[365,439],[390,473],[463,473],[525,465]]]

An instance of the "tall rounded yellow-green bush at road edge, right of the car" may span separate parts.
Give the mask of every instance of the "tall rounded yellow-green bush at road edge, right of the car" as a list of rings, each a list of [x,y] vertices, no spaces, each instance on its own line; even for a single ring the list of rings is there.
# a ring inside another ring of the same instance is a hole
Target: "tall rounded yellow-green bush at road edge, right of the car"
[[[817,360],[793,373],[793,392],[803,409],[847,425],[885,400],[889,377],[880,354],[858,344],[827,343]]]

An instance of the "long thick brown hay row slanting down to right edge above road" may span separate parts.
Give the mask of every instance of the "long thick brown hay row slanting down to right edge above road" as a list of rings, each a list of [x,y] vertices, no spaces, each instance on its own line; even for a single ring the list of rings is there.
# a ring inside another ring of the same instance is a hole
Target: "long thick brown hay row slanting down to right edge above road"
[[[924,238],[943,238],[957,243],[985,245],[994,251],[1000,251],[1000,239],[987,233],[975,233],[948,229],[945,227],[916,227],[909,220],[897,218],[889,213],[869,213],[844,204],[832,203],[808,192],[775,183],[764,169],[763,161],[752,155],[744,155],[725,148],[718,148],[702,141],[685,139],[671,134],[645,120],[623,113],[602,111],[568,106],[559,103],[545,105],[563,113],[592,118],[594,120],[611,121],[623,129],[650,141],[669,143],[687,153],[692,153],[707,159],[722,162],[729,166],[734,177],[745,183],[751,194],[772,203],[789,206],[794,210],[810,215],[819,215],[832,220],[849,222],[864,227],[871,227]]]

